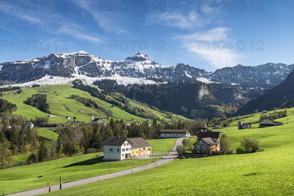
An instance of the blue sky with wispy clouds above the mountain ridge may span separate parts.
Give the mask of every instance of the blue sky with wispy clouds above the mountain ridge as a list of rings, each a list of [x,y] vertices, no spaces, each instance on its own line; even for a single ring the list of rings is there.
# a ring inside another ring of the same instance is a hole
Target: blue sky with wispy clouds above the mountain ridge
[[[294,1],[0,1],[0,62],[138,51],[206,71],[294,63]]]

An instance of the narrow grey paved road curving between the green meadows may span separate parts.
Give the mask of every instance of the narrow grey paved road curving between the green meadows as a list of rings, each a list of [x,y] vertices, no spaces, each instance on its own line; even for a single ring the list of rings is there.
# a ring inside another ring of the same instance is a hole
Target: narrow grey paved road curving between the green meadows
[[[76,180],[76,181],[72,181],[72,182],[63,183],[62,184],[62,189],[66,189],[66,188],[70,188],[70,187],[76,187],[76,186],[79,186],[79,185],[84,185],[84,184],[97,182],[97,181],[101,181],[101,180],[106,180],[106,179],[110,179],[110,178],[130,174],[130,173],[134,173],[134,172],[140,172],[140,171],[148,170],[148,169],[151,169],[151,168],[158,167],[158,166],[161,166],[163,164],[169,163],[169,162],[173,161],[174,158],[176,158],[178,156],[178,153],[176,152],[175,148],[176,148],[177,145],[181,144],[183,139],[184,138],[177,139],[174,146],[173,146],[173,148],[172,148],[172,151],[169,153],[169,155],[164,156],[163,159],[160,159],[160,160],[158,160],[156,162],[153,162],[153,163],[150,163],[148,165],[141,166],[141,167],[133,168],[133,169],[123,170],[123,171],[120,171],[120,172],[114,172],[114,173],[109,173],[109,174],[100,175],[100,176],[96,176],[96,177],[91,177],[91,178],[86,178],[86,179],[82,179],[82,180]],[[50,186],[51,192],[58,191],[59,188],[60,188],[59,184]],[[48,193],[48,192],[49,192],[49,187],[42,187],[42,188],[38,188],[38,189],[33,189],[33,190],[29,190],[29,191],[15,193],[15,194],[12,194],[11,196],[35,196],[35,195],[39,195],[39,194],[45,194],[45,193]]]

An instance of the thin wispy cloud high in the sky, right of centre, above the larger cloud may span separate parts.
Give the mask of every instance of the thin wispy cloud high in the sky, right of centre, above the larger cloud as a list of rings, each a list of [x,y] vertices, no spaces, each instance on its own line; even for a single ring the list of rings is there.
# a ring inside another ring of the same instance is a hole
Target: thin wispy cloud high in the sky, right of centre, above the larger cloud
[[[149,24],[160,24],[172,26],[182,29],[193,29],[210,23],[209,19],[205,21],[196,11],[191,11],[188,15],[179,12],[164,12],[160,14],[152,14],[148,17]]]

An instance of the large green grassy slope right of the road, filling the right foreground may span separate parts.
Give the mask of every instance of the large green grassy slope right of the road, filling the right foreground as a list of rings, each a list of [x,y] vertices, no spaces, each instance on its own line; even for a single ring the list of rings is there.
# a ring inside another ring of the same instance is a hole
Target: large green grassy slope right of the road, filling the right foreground
[[[277,120],[284,123],[281,126],[245,130],[233,126],[227,129],[233,148],[239,147],[244,137],[252,137],[259,139],[264,148],[262,152],[175,160],[147,171],[46,195],[120,195],[121,189],[116,187],[126,182],[128,188],[124,189],[124,194],[131,196],[294,195],[293,112],[294,108],[291,108],[288,110],[290,116]],[[257,119],[259,115],[253,118]]]

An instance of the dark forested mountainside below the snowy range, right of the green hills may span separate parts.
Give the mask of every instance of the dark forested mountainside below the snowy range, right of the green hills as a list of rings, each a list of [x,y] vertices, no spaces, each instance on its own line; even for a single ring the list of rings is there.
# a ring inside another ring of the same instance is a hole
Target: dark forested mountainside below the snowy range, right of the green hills
[[[120,92],[128,98],[150,104],[160,110],[183,115],[187,118],[221,117],[234,114],[249,99],[263,93],[245,87],[200,81],[167,82],[164,84],[119,85],[115,80],[94,82],[106,92]],[[240,89],[243,89],[242,91]],[[222,108],[222,109],[221,109]]]

